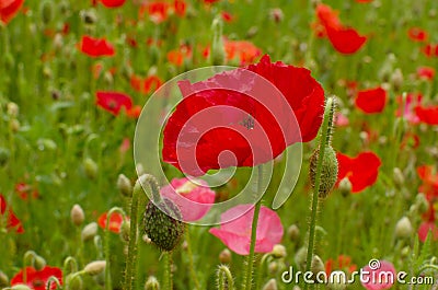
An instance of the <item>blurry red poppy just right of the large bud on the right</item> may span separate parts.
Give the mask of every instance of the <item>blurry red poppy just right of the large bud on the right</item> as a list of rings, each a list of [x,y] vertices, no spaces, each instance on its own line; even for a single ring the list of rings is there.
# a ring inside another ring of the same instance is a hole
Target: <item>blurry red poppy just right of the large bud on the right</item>
[[[359,193],[376,183],[382,164],[373,152],[362,152],[355,158],[336,154],[338,162],[337,185],[343,178],[351,183],[351,193]]]

